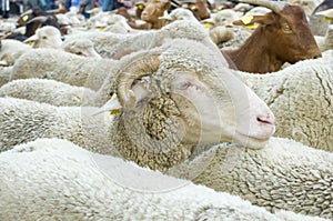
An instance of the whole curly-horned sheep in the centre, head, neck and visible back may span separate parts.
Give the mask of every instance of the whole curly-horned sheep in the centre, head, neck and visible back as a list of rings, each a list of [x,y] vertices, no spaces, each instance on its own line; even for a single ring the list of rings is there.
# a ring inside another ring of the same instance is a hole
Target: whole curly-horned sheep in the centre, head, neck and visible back
[[[105,82],[117,97],[102,109],[118,109],[114,117],[92,115],[99,108],[1,98],[0,149],[57,137],[104,154],[114,149],[124,159],[164,171],[221,141],[262,148],[274,132],[274,115],[216,62],[219,57],[184,39],[124,57],[114,80]]]

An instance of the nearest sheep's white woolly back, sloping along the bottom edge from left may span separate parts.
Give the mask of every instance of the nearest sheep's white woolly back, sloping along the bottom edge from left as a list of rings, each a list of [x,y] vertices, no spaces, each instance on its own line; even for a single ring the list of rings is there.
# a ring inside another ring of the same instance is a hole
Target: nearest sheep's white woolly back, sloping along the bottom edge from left
[[[122,174],[120,174],[120,171]],[[1,220],[309,220],[239,197],[39,139],[0,154]]]

